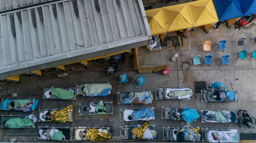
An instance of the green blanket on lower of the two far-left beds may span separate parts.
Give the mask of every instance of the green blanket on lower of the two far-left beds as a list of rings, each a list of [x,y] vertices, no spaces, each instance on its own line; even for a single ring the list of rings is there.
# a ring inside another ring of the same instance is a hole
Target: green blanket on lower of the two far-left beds
[[[21,119],[21,118],[11,118],[8,121],[5,122],[6,126],[9,128],[22,128],[25,126],[32,126],[33,123],[30,119],[27,117]]]

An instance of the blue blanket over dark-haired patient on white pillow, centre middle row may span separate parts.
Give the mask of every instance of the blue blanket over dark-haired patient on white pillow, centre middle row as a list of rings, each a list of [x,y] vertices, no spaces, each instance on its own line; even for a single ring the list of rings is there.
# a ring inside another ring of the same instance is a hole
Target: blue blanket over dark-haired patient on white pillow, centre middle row
[[[132,115],[133,115],[133,120],[138,120],[139,118],[142,118],[142,117],[145,117],[145,118],[155,117],[154,112],[150,109],[140,109],[138,111],[134,111]]]

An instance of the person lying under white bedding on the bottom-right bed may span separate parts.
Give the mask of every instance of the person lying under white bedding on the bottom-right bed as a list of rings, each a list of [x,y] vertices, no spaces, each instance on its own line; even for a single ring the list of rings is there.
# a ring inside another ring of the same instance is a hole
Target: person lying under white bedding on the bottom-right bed
[[[208,142],[238,142],[236,129],[230,131],[209,130],[207,133]]]

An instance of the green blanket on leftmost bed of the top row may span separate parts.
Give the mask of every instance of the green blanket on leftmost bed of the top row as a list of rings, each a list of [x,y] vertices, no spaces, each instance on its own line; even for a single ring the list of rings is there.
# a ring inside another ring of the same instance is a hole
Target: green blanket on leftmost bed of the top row
[[[58,96],[61,99],[72,99],[74,98],[74,93],[69,90],[63,90],[61,88],[51,87],[52,94]]]

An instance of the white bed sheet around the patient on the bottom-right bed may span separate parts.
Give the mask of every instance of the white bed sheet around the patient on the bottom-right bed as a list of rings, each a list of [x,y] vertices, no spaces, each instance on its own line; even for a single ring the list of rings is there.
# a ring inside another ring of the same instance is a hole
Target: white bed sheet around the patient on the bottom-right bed
[[[213,136],[211,135],[211,133],[214,132],[218,132],[218,134],[221,136],[220,141],[218,140],[214,140]],[[227,134],[227,133],[231,133],[231,134]],[[232,136],[236,137],[236,140],[233,141]],[[209,133],[207,133],[207,140],[208,142],[239,142],[239,140],[237,140],[237,130],[236,129],[231,129],[230,131],[217,131],[217,130],[209,130]]]

